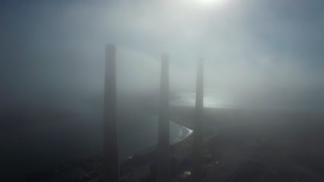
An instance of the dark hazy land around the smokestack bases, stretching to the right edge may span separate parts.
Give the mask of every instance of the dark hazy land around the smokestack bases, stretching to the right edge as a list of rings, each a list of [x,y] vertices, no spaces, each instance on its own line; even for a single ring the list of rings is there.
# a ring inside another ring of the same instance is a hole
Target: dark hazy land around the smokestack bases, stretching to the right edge
[[[156,109],[150,107],[152,114]],[[172,106],[170,118],[192,129],[194,108]],[[201,181],[324,181],[324,112],[289,110],[204,110],[204,176]],[[192,136],[171,146],[172,181],[190,181]],[[122,181],[154,181],[155,149],[134,154],[121,165]],[[75,159],[45,176],[82,169],[66,181],[100,181],[102,154]]]

